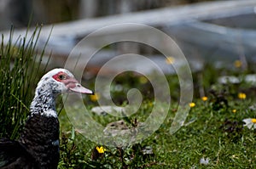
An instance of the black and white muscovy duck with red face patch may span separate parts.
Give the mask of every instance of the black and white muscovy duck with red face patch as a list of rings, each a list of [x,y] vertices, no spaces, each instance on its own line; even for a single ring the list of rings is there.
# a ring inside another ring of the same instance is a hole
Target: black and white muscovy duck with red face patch
[[[60,141],[55,98],[61,93],[93,94],[68,70],[54,69],[46,73],[38,82],[20,138],[0,139],[0,168],[57,168]]]

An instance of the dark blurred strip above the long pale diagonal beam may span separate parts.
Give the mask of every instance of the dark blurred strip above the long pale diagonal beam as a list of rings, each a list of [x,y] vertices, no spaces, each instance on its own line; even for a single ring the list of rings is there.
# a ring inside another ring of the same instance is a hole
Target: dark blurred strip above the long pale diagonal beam
[[[125,14],[207,0],[1,0],[0,29]],[[210,0],[208,0],[210,1]]]

